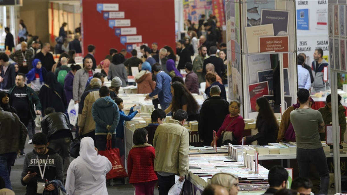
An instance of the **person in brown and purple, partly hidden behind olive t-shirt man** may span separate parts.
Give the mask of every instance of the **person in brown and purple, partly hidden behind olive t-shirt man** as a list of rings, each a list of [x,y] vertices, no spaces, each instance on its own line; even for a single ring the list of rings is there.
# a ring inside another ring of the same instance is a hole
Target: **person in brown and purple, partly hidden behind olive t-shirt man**
[[[312,97],[310,97],[310,105],[311,108],[314,103],[314,100]],[[287,141],[287,142],[295,142],[295,132],[293,125],[291,125],[290,122],[290,112],[299,108],[300,102],[297,102],[296,104],[291,105],[288,107],[284,112],[281,119],[281,124],[278,129],[278,136],[277,136],[277,142],[280,140]]]

